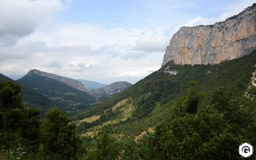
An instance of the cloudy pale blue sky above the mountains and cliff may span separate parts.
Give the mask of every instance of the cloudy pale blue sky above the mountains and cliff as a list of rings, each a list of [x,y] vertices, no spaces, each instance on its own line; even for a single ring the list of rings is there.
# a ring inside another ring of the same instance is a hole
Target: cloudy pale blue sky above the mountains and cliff
[[[214,24],[256,0],[0,0],[0,73],[38,69],[136,83],[161,68],[182,26]]]

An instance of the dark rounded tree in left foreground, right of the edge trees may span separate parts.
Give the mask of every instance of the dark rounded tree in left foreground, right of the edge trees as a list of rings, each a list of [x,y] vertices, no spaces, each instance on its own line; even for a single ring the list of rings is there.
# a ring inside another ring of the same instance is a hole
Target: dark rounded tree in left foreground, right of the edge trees
[[[76,126],[58,108],[51,108],[45,114],[41,126],[42,142],[46,154],[52,159],[78,159],[81,140],[76,135]]]

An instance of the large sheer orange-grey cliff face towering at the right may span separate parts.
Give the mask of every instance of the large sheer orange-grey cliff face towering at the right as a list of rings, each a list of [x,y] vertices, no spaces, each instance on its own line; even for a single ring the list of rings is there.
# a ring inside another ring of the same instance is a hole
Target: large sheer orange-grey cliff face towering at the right
[[[182,27],[166,47],[162,66],[218,64],[256,49],[256,3],[224,22],[212,26]]]

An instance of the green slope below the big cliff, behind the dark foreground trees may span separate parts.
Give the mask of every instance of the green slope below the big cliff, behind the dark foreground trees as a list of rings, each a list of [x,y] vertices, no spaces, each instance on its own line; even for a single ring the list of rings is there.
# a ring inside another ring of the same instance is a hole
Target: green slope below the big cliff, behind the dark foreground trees
[[[159,122],[171,118],[172,104],[187,94],[191,80],[197,82],[196,88],[202,93],[201,109],[209,104],[209,97],[218,86],[227,86],[235,97],[244,97],[248,86],[252,84],[255,65],[256,51],[219,65],[175,65],[170,61],[124,92],[86,108],[73,119],[87,120],[84,118],[98,117],[94,122],[79,122],[78,130],[84,136],[97,134],[101,129],[109,129],[113,136],[135,138],[140,136],[141,132],[152,130]],[[125,99],[129,99],[129,102]],[[116,111],[113,109],[115,106],[118,106]],[[124,111],[129,106],[133,109],[131,113],[128,112],[131,114],[129,118],[125,118]]]

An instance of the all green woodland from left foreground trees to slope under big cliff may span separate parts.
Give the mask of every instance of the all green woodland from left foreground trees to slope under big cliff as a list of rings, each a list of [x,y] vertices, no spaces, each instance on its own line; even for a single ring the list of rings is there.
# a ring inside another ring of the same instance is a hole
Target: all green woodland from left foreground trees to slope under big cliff
[[[255,64],[256,51],[219,65],[170,61],[81,113],[52,107],[43,118],[2,80],[0,159],[243,159],[239,145],[256,144]]]

